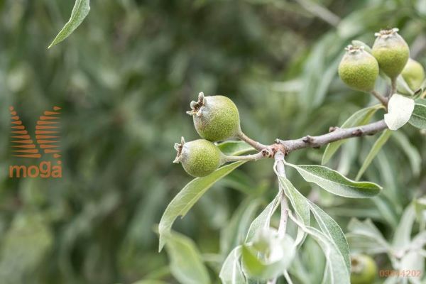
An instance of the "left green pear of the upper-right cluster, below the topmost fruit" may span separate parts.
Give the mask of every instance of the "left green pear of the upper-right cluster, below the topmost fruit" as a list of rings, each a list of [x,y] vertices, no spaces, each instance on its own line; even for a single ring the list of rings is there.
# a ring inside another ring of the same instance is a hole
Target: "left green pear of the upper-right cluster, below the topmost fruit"
[[[370,92],[378,77],[377,60],[363,46],[348,45],[339,65],[339,76],[349,87]]]

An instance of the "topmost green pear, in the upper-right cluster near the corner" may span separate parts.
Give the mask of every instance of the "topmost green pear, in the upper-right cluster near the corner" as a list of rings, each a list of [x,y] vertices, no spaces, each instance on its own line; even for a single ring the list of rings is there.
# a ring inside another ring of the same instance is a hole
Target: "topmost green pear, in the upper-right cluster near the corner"
[[[380,69],[393,80],[400,75],[410,58],[410,48],[398,35],[398,31],[398,28],[393,28],[376,33],[377,38],[372,48]]]

